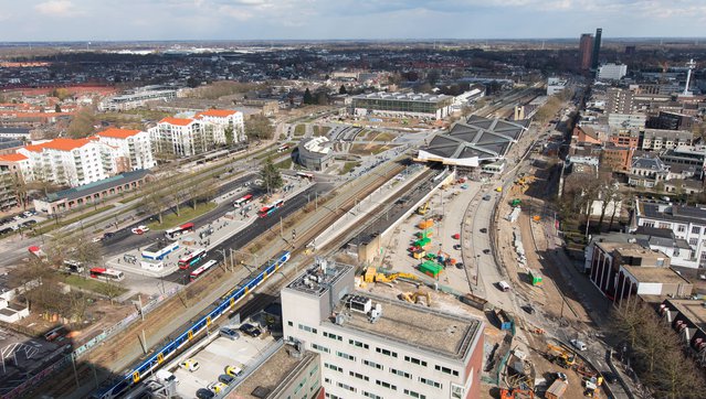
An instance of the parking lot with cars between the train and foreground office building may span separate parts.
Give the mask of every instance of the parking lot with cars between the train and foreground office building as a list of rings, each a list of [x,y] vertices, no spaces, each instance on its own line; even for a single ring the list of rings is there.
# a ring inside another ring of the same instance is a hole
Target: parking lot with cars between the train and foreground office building
[[[182,367],[172,370],[179,379],[178,393],[185,398],[194,398],[197,390],[217,382],[219,376],[225,374],[228,366],[246,369],[252,360],[274,342],[271,335],[253,338],[240,334],[236,339],[219,336],[203,349],[188,357],[199,363],[197,370],[189,371]],[[183,360],[186,358],[182,357],[178,363]]]

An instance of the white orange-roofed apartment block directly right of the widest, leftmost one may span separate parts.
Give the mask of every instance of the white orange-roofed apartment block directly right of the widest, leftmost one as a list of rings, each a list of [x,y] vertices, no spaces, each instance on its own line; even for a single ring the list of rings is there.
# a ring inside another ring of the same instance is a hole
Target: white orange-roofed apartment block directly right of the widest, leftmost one
[[[146,131],[110,128],[96,133],[109,153],[110,174],[155,166],[151,141]]]

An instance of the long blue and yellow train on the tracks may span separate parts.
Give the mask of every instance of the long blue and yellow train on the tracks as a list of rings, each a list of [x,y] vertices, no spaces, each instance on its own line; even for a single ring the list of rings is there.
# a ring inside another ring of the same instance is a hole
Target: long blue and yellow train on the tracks
[[[173,356],[181,347],[192,341],[201,332],[206,331],[207,326],[211,325],[218,317],[225,314],[235,303],[240,302],[245,295],[253,291],[257,285],[265,281],[270,276],[274,274],[284,263],[289,260],[292,254],[289,251],[283,251],[277,255],[277,258],[270,265],[264,266],[257,277],[250,280],[245,285],[238,290],[231,291],[226,296],[221,299],[215,309],[209,312],[203,317],[199,319],[189,328],[182,332],[177,338],[170,341],[157,353],[151,355],[145,362],[136,366],[131,371],[125,375],[117,384],[104,389],[93,398],[99,399],[113,399],[118,398],[122,393],[125,393],[130,387],[141,380],[144,376],[147,376],[149,371],[160,367],[169,357]]]

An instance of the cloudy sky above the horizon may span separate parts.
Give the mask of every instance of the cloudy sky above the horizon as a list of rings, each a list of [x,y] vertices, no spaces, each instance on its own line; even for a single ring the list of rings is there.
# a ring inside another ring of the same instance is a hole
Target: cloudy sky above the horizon
[[[705,36],[706,0],[0,0],[0,41]]]

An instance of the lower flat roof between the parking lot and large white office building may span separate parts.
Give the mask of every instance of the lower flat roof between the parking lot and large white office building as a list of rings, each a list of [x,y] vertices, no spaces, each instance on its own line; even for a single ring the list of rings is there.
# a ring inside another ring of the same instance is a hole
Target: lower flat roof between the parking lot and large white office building
[[[239,399],[265,399],[276,398],[277,388],[289,382],[301,367],[316,359],[318,356],[312,352],[302,353],[301,357],[289,354],[291,346],[283,345],[277,352],[267,358],[255,371],[245,378],[228,398]]]

